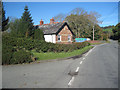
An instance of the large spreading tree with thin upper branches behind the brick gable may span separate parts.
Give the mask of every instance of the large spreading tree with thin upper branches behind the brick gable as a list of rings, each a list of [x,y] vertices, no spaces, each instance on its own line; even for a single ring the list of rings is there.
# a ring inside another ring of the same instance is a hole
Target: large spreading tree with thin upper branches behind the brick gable
[[[76,38],[90,38],[93,40],[108,40],[107,34],[99,26],[101,15],[97,12],[87,12],[83,8],[75,8],[67,14],[58,14],[54,16],[56,22],[66,21]]]

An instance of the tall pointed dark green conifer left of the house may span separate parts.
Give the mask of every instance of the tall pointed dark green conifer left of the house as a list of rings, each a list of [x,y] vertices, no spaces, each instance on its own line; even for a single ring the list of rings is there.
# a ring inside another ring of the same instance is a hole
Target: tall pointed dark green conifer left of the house
[[[14,37],[33,37],[33,20],[28,7],[25,6],[24,13],[20,19],[10,22],[11,36]]]

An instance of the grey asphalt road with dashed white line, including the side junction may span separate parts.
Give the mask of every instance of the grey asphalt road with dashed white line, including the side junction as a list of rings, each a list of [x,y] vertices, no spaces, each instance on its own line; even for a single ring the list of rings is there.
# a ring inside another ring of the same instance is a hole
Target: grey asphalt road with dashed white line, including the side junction
[[[82,57],[2,67],[3,88],[117,88],[118,44],[97,45]]]

